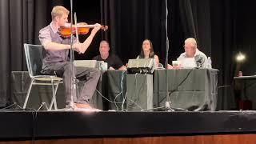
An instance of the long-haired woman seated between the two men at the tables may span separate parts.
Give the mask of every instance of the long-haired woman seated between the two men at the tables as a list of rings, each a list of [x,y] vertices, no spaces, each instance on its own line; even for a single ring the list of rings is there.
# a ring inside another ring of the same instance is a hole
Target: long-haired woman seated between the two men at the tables
[[[141,54],[137,58],[154,58],[154,66],[158,68],[159,58],[158,55],[154,54],[153,45],[149,39],[145,39],[142,42]]]

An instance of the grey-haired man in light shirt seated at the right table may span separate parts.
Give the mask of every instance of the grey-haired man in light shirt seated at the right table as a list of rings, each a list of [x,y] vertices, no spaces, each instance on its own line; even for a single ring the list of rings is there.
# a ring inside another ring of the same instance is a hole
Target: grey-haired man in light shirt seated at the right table
[[[194,58],[194,62],[198,67],[206,68],[206,54],[203,54],[200,50],[198,50],[197,42],[194,38],[186,38],[184,42],[184,50],[177,59],[182,58]],[[172,68],[180,68],[181,66],[171,66],[168,64],[168,69]]]

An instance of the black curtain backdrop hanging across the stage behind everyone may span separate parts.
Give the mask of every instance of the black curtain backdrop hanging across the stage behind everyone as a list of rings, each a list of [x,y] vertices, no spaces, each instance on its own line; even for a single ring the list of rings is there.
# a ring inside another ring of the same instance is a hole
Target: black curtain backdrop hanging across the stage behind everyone
[[[26,70],[23,43],[39,44],[38,30],[49,24],[50,10],[55,5],[63,5],[70,10],[70,0],[0,1],[0,106],[9,102],[10,72]],[[250,29],[256,23],[250,21],[254,16],[254,6],[253,0],[168,0],[169,62],[183,52],[185,38],[197,38],[198,48],[210,56],[213,67],[220,70],[219,86],[226,86],[218,90],[218,110],[236,107],[233,94],[233,77],[237,70],[234,54],[243,46],[250,46],[250,50],[254,46],[254,35],[250,35]],[[76,59],[93,58],[98,54],[98,43],[106,39],[110,42],[111,51],[126,63],[129,58],[137,57],[143,39],[150,38],[160,62],[164,63],[164,0],[74,0],[74,11],[78,22],[99,22],[110,27],[95,37],[86,54],[75,54]],[[244,17],[246,14],[251,17]],[[250,24],[244,23],[246,20]],[[250,41],[244,37],[250,37]],[[81,40],[84,38],[86,36],[81,36]]]

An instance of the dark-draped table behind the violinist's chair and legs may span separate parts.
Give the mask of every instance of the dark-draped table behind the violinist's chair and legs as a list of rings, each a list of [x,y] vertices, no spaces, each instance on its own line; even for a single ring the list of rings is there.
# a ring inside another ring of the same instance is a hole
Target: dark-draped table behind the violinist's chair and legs
[[[11,72],[11,102],[16,102],[19,106],[23,106],[28,87],[30,86],[30,80],[28,71]],[[83,84],[84,82],[78,83],[78,95]],[[121,110],[125,94],[126,71],[102,71],[94,96],[90,99],[90,105],[101,110]],[[42,102],[46,102],[46,105],[49,106],[51,96],[51,86],[32,86],[27,107],[37,110]],[[56,98],[58,108],[64,108],[66,102],[63,84],[58,86]],[[126,102],[123,106],[124,108],[126,107]],[[46,110],[46,107],[43,106],[42,110]]]

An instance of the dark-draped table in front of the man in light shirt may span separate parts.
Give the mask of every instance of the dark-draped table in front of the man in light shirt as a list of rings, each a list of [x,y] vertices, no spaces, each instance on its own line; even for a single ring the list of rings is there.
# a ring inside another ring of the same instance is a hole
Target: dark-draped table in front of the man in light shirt
[[[218,70],[155,70],[154,107],[165,106],[168,96],[166,95],[166,79],[171,107],[194,111],[216,109]]]

